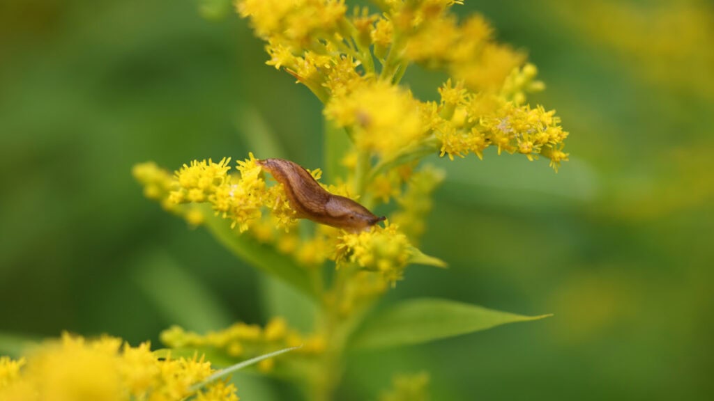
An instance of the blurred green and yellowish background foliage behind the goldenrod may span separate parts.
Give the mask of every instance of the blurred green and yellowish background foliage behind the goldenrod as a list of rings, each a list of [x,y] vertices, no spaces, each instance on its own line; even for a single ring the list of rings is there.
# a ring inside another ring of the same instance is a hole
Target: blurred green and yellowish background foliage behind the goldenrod
[[[570,162],[555,174],[517,156],[431,158],[448,178],[423,249],[451,268],[410,268],[388,299],[555,317],[354,355],[341,400],[420,370],[433,400],[710,399],[713,4],[456,9],[528,49],[548,85],[531,101],[562,116]],[[146,200],[130,173],[244,158],[264,129],[318,167],[321,106],[262,48],[246,21],[202,18],[188,0],[0,3],[0,347],[266,321],[263,278]],[[413,68],[406,82],[436,98],[442,78]],[[245,380],[241,399],[289,399]]]

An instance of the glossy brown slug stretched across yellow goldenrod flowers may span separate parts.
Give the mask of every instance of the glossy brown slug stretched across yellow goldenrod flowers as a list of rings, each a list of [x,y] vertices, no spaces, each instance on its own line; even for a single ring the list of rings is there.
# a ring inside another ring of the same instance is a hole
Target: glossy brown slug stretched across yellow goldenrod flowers
[[[266,158],[256,163],[283,184],[288,202],[298,218],[351,231],[364,230],[384,220],[350,198],[325,191],[296,163],[281,158]]]

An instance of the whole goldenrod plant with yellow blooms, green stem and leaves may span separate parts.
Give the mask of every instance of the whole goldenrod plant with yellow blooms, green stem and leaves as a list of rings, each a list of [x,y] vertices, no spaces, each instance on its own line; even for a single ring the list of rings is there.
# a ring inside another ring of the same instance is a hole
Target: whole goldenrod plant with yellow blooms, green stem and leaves
[[[257,372],[296,385],[306,400],[335,400],[349,352],[543,318],[433,298],[375,308],[410,265],[448,262],[419,249],[445,174],[429,159],[481,163],[473,156],[486,158],[494,148],[546,158],[556,171],[568,160],[560,118],[528,103],[528,93],[544,88],[535,66],[498,43],[483,16],[458,21],[451,9],[461,3],[379,0],[351,8],[341,0],[238,0],[238,14],[266,43],[266,64],[323,103],[324,165],[286,161],[257,146],[237,163],[236,155],[221,155],[174,173],[153,162],[134,166],[146,197],[306,300],[314,315],[308,333],[284,316],[208,333],[174,326],[161,333],[166,349],[157,352],[65,335],[26,358],[0,360],[0,399],[236,400],[224,377],[206,380],[251,361]],[[420,100],[402,83],[413,64],[446,77],[433,89],[441,100]],[[268,160],[281,161],[271,165],[279,168],[268,168]],[[376,210],[385,218],[369,217]],[[291,352],[273,356],[281,350]],[[60,368],[63,358],[72,364]],[[399,376],[380,399],[426,400],[427,385],[423,372]]]

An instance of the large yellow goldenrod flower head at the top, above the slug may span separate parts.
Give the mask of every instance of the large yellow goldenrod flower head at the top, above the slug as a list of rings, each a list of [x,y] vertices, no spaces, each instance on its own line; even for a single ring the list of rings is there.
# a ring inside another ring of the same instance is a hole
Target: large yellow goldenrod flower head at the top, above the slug
[[[376,1],[382,14],[343,1],[238,0],[256,34],[268,42],[268,64],[296,76],[325,103],[359,151],[381,159],[431,148],[441,156],[498,153],[567,161],[560,119],[526,104],[540,91],[537,69],[521,51],[498,44],[482,16],[459,23],[461,1]],[[398,85],[409,64],[440,68],[451,78],[441,102],[424,102]],[[379,68],[378,68],[379,66]]]

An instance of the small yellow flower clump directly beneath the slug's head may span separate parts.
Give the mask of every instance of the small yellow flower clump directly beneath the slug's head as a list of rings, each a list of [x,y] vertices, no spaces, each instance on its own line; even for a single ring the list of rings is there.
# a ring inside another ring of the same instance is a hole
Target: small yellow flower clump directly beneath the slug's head
[[[354,263],[380,273],[388,282],[401,280],[412,256],[412,246],[396,225],[374,226],[358,233],[344,233],[338,238],[336,261]]]

